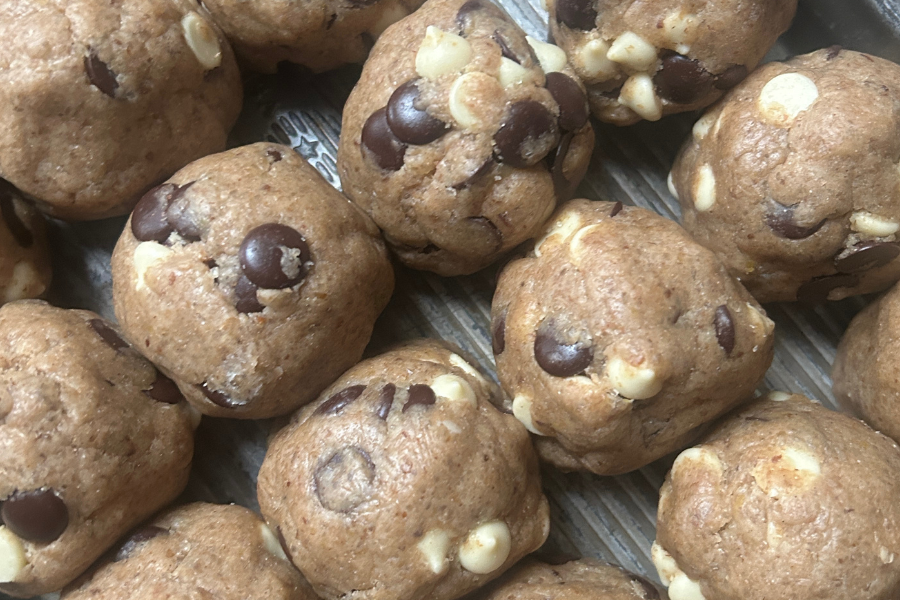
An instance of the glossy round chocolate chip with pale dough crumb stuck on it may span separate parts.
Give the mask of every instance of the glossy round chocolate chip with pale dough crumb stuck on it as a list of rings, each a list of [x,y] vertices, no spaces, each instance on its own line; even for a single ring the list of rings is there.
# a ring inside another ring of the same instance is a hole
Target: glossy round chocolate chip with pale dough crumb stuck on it
[[[309,246],[299,231],[280,223],[251,229],[241,242],[241,270],[261,288],[283,289],[306,277]]]

